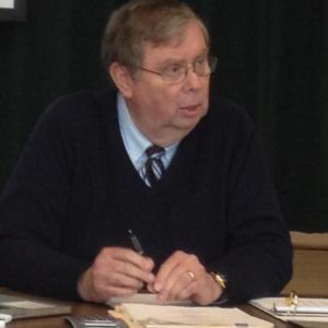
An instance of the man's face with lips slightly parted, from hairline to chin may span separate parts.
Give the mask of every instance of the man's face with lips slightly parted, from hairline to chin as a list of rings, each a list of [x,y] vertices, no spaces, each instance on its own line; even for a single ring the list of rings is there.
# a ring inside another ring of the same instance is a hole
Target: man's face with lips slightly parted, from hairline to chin
[[[209,75],[199,77],[190,63],[206,58],[208,48],[200,26],[187,25],[183,37],[163,46],[147,44],[142,67],[162,72],[172,65],[189,66],[186,79],[167,85],[161,75],[143,70],[126,96],[133,121],[152,142],[168,145],[181,140],[208,112]]]

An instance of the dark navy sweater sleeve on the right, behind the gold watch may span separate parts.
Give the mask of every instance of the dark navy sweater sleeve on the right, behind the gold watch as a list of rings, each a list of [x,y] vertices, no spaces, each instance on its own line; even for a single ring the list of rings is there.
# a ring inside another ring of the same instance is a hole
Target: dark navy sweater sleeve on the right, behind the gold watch
[[[292,246],[254,125],[242,115],[227,190],[227,251],[212,269],[227,280],[231,303],[279,293],[292,272]]]

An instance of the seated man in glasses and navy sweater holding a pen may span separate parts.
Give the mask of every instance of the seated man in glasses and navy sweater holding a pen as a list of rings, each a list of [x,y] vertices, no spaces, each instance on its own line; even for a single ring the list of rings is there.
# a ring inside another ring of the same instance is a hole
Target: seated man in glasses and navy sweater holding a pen
[[[209,105],[203,23],[174,0],[130,1],[102,55],[117,93],[56,102],[3,192],[0,284],[93,302],[144,286],[201,305],[278,293],[289,234],[247,114]]]

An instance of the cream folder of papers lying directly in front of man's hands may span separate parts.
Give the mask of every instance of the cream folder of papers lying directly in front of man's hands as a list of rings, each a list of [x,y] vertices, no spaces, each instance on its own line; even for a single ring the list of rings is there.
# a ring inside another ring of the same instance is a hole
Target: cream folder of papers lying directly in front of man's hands
[[[131,328],[273,328],[238,308],[122,303],[109,314]]]

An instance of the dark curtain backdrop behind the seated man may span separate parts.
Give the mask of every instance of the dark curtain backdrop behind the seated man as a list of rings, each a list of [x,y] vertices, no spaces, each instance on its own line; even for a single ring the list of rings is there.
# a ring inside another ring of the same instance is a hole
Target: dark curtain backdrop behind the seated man
[[[0,189],[56,97],[107,85],[99,39],[125,1],[28,0],[0,22]],[[219,56],[213,92],[244,104],[263,139],[290,229],[328,231],[328,1],[186,1]]]

